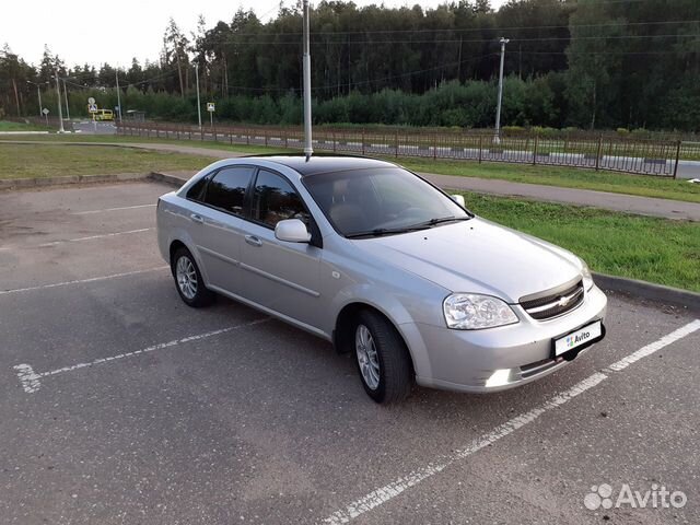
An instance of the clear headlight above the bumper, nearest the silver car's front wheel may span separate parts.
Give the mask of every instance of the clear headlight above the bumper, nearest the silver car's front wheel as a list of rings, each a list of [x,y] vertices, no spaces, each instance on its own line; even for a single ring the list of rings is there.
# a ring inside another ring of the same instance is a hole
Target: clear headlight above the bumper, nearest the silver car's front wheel
[[[448,328],[478,330],[517,323],[517,316],[500,299],[476,293],[453,293],[442,304]]]

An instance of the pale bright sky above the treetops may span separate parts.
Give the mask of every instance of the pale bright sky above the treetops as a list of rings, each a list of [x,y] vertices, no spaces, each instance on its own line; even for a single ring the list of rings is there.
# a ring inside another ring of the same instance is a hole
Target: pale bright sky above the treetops
[[[355,0],[358,5],[380,3]],[[493,8],[505,0],[491,0]],[[278,12],[280,0],[0,0],[0,47],[37,65],[47,44],[69,67],[90,63],[128,68],[131,58],[141,63],[156,60],[162,37],[172,16],[185,34],[194,31],[199,14],[207,27],[219,20],[230,22],[240,9],[253,8],[262,20]],[[294,0],[284,0],[291,5]],[[387,7],[433,8],[444,0],[384,0]],[[312,0],[313,4],[313,0]]]

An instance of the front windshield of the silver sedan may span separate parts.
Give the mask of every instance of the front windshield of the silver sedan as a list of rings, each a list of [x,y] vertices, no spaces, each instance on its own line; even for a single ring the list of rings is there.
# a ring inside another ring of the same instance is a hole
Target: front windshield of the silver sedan
[[[471,218],[450,197],[399,167],[324,173],[303,180],[326,218],[347,237],[406,233]]]

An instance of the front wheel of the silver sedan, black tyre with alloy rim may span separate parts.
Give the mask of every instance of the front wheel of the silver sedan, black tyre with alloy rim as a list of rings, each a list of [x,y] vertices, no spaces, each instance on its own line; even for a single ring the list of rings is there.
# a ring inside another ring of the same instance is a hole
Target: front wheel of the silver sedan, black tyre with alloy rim
[[[380,404],[404,400],[413,386],[413,370],[406,343],[382,315],[358,314],[352,343],[362,386]]]

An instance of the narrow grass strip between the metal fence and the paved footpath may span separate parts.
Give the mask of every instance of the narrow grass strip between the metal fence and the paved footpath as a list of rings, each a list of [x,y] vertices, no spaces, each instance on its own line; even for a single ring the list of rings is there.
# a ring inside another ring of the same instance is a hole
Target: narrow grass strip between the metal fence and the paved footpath
[[[116,136],[81,136],[63,135],[49,137],[26,137],[28,140],[60,140],[78,142],[142,142],[182,144],[189,148],[205,148],[225,150],[231,152],[257,154],[289,152],[283,148],[265,148],[261,145],[233,144],[225,142],[208,142],[198,140],[166,140],[147,139],[139,137]],[[0,141],[2,137],[0,137]],[[24,140],[24,139],[23,139]],[[525,184],[541,184],[564,188],[593,189],[610,191],[615,194],[635,195],[641,197],[655,197],[661,199],[682,200],[687,202],[700,202],[700,185],[690,184],[687,180],[674,180],[668,177],[653,175],[632,175],[626,173],[596,172],[594,170],[563,167],[563,166],[533,166],[528,164],[509,163],[482,163],[474,161],[448,161],[417,158],[386,158],[398,162],[409,170],[440,175],[456,175],[476,178],[497,178]]]

